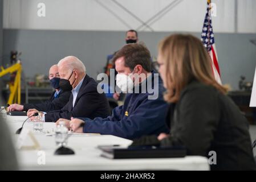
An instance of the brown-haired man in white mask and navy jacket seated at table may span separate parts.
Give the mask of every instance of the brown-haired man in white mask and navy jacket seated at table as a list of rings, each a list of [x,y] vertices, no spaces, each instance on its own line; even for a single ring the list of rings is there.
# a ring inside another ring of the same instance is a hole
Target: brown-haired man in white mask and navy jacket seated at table
[[[107,118],[71,118],[71,121],[62,121],[76,133],[100,133],[127,139],[169,131],[165,123],[168,105],[162,98],[164,87],[159,75],[152,71],[147,47],[128,44],[116,53],[113,60],[118,73],[116,84],[122,92],[128,92],[124,105],[115,107]],[[150,81],[152,84],[149,84]],[[148,85],[147,89],[145,85]],[[150,93],[149,88],[153,92]]]

